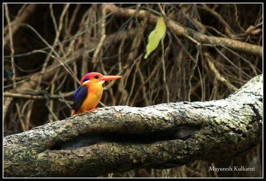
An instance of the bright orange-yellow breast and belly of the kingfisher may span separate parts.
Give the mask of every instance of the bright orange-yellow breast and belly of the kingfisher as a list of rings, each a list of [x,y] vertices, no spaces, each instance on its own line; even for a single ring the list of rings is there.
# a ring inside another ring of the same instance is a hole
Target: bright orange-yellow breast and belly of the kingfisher
[[[88,94],[86,99],[83,101],[80,109],[77,113],[82,113],[84,111],[94,109],[100,102],[103,88],[102,85],[98,83],[91,83],[88,85]]]

